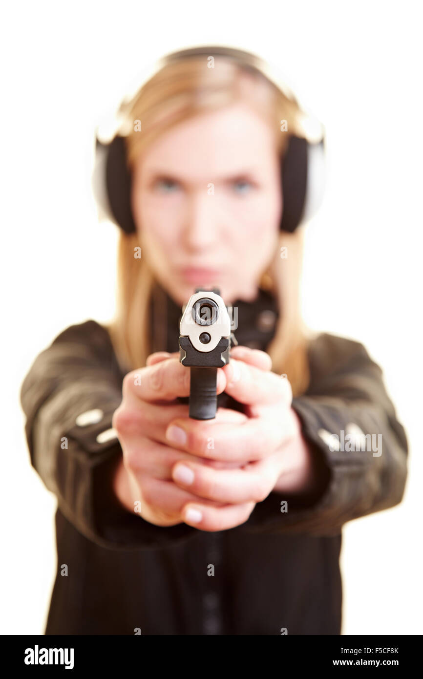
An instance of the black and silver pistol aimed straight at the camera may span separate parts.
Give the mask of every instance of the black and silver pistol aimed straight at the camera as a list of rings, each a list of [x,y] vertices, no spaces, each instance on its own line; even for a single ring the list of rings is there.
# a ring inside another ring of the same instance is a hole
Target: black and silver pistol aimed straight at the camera
[[[189,367],[189,417],[213,420],[217,410],[217,368],[229,363],[236,339],[218,288],[197,288],[179,324],[179,361]]]

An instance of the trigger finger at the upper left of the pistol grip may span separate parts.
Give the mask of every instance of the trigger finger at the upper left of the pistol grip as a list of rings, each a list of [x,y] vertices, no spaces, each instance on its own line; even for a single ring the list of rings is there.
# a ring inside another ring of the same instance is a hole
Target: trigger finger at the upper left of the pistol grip
[[[124,377],[122,392],[133,394],[141,401],[172,401],[189,396],[189,369],[179,359],[168,358],[155,365],[132,370]],[[226,386],[222,368],[217,369],[217,394]]]

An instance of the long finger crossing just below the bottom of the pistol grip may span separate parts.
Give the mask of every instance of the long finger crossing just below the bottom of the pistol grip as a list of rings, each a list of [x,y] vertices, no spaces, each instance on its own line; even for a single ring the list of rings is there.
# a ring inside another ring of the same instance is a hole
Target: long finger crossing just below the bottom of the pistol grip
[[[202,458],[251,462],[272,454],[296,433],[291,411],[281,405],[272,417],[246,418],[238,425],[190,418],[172,420],[166,429],[166,441]]]

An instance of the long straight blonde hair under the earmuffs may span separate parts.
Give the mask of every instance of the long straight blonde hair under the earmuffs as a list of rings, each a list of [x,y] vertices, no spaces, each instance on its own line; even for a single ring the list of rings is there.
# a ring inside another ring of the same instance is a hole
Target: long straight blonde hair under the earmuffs
[[[301,136],[299,106],[259,71],[224,56],[215,58],[213,69],[208,68],[204,56],[184,58],[164,65],[130,103],[122,105],[121,115],[132,121],[125,137],[128,168],[132,170],[147,146],[169,128],[242,97],[248,98],[249,105],[274,128],[278,153],[284,152],[288,141],[288,133],[280,132],[281,120],[287,121],[291,134]],[[142,122],[141,134],[134,130],[136,120]],[[108,330],[117,359],[126,372],[143,367],[151,353],[149,306],[155,278],[147,261],[134,257],[134,249],[139,246],[142,251],[142,230],[141,237],[121,232],[117,314]],[[282,247],[287,253],[284,259],[280,257]],[[281,232],[278,249],[260,282],[261,287],[276,296],[281,310],[274,339],[267,349],[272,357],[272,370],[287,375],[294,396],[306,390],[310,379],[307,355],[310,331],[304,327],[300,313],[302,250],[302,229],[293,234]]]

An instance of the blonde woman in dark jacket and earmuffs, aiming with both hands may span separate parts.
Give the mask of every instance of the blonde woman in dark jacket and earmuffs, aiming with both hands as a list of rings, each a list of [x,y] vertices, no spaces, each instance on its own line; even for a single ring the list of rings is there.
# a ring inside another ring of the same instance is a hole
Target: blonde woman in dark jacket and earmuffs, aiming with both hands
[[[309,121],[255,56],[210,47],[119,113],[97,149],[115,322],[63,331],[21,392],[58,498],[45,633],[340,634],[342,526],[401,501],[407,440],[363,345],[301,322]],[[192,420],[179,320],[213,286],[238,346]]]

